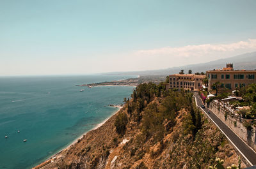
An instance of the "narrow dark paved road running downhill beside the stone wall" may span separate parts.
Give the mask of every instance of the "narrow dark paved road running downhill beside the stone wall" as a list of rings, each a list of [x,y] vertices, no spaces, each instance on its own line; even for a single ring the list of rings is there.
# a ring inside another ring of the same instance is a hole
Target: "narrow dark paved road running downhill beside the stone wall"
[[[202,100],[199,98],[198,93],[195,93],[195,99],[198,107],[203,105]],[[236,147],[237,151],[239,151],[244,158],[248,161],[250,165],[256,165],[256,152],[253,151],[246,143],[239,138],[228,126],[221,121],[214,113],[208,113],[208,108],[202,108],[204,113],[211,117],[212,121],[221,129],[221,131],[227,136],[228,140],[230,140],[233,145]]]

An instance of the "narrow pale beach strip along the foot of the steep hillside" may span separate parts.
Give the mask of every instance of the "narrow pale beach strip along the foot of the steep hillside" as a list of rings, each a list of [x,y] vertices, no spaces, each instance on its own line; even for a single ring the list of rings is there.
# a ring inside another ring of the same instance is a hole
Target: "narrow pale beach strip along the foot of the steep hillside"
[[[113,115],[117,114],[122,108],[123,106],[115,106],[115,108],[118,108],[118,110],[116,110],[113,114],[111,114],[107,119],[105,119],[104,121],[100,122],[99,124],[97,124],[94,128],[90,129],[89,131],[86,131],[85,133],[83,133],[81,136],[79,136],[78,138],[76,138],[72,143],[69,143],[67,146],[65,146],[63,149],[61,149],[60,151],[56,152],[54,155],[50,156],[49,158],[45,159],[44,161],[42,161],[42,163],[45,163],[46,161],[49,161],[52,158],[60,158],[61,152],[66,151],[67,149],[69,149],[70,147],[72,147],[73,145],[75,145],[78,140],[82,139],[88,132],[93,131],[95,129],[100,128],[106,121],[108,121],[111,117],[113,117]],[[38,165],[41,165],[42,163],[39,163]],[[33,168],[35,168],[36,166],[33,166]],[[32,168],[32,169],[33,169]],[[43,167],[42,167],[43,168]]]

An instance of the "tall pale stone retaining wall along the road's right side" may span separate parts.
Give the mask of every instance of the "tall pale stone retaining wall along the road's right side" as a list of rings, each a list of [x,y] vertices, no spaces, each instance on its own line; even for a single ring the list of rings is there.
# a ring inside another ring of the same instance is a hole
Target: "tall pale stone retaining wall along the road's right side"
[[[256,133],[255,133],[255,127],[252,128],[252,130],[246,129],[243,126],[244,120],[239,120],[234,115],[230,114],[229,112],[225,112],[223,108],[219,108],[218,104],[211,103],[209,105],[209,108],[211,108],[212,112],[216,114],[229,128],[236,133],[240,138],[244,140],[250,147],[252,147],[256,151]],[[225,117],[225,114],[226,117]]]

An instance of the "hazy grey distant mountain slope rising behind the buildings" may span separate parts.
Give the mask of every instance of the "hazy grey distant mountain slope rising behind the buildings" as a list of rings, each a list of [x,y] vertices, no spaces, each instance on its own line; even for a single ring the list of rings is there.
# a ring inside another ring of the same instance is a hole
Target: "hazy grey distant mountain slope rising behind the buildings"
[[[186,66],[172,67],[163,70],[146,70],[146,71],[127,71],[127,72],[111,72],[104,73],[105,75],[170,75],[179,73],[180,70],[188,72],[192,70],[195,72],[205,72],[207,70],[221,69],[226,66],[226,63],[234,64],[235,70],[255,70],[256,69],[256,52],[236,55],[225,59],[218,59],[216,61],[204,62],[200,64],[189,64]]]

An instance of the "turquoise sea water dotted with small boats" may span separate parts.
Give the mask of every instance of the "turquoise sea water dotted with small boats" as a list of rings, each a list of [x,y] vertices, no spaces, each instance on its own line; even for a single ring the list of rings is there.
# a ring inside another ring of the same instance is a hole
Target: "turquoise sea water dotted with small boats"
[[[130,77],[0,77],[0,168],[44,161],[116,112],[108,105],[122,104],[133,89],[75,85]]]

